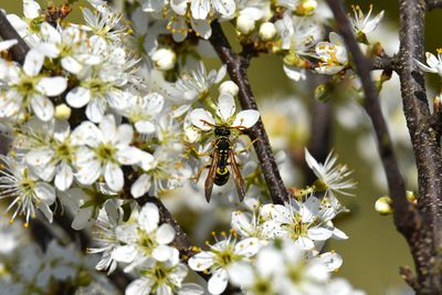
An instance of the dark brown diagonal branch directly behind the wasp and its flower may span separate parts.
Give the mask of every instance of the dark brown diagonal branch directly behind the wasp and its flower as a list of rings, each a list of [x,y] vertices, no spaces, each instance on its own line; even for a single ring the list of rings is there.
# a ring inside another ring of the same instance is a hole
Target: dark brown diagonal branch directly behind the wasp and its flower
[[[248,51],[244,51],[243,56],[236,54],[230,46],[221,25],[217,21],[212,22],[212,35],[209,41],[217,51],[222,63],[228,66],[231,80],[236,83],[240,88],[239,97],[242,108],[257,110],[246,73],[250,59],[249,53],[246,53]],[[259,139],[254,143],[254,148],[260,159],[272,201],[274,203],[282,203],[284,200],[288,200],[288,192],[281,178],[262,120],[260,119],[246,134],[252,140]]]

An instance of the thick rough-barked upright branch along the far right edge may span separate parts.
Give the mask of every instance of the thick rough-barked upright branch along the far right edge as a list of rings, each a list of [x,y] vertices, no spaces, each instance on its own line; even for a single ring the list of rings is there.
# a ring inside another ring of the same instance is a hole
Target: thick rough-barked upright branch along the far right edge
[[[399,0],[400,51],[397,71],[400,76],[403,113],[413,145],[419,181],[419,211],[423,225],[415,244],[414,261],[422,294],[442,294],[442,159],[440,137],[431,124],[423,73],[415,59],[423,60],[424,14],[423,0]]]

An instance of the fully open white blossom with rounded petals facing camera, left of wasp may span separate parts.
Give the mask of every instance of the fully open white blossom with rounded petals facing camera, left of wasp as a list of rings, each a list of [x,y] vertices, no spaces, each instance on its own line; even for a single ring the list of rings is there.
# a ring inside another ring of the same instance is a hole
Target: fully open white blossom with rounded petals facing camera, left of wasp
[[[99,127],[83,122],[72,135],[81,146],[75,155],[76,179],[82,185],[92,185],[104,176],[106,185],[114,191],[124,186],[122,165],[140,161],[141,151],[130,146],[134,129],[128,124],[117,126],[115,117],[107,115]]]

